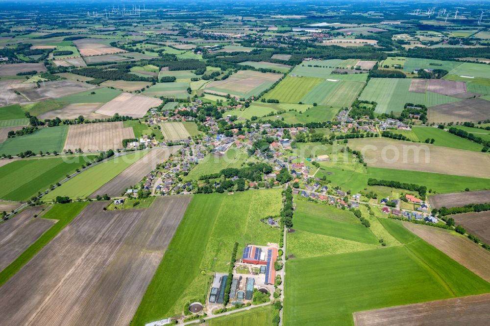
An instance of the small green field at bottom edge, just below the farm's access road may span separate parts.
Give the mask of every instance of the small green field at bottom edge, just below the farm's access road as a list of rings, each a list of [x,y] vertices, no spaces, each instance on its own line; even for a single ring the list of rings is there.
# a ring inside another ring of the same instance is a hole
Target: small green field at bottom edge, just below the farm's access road
[[[241,311],[229,316],[210,319],[209,326],[270,326],[272,322],[272,305]]]

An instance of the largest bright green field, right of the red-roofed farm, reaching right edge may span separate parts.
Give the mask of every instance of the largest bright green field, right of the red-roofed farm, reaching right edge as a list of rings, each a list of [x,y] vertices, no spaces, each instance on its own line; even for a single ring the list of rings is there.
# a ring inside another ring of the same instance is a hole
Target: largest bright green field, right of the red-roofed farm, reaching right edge
[[[354,325],[356,311],[490,291],[401,224],[381,222],[403,246],[287,261],[283,325]]]

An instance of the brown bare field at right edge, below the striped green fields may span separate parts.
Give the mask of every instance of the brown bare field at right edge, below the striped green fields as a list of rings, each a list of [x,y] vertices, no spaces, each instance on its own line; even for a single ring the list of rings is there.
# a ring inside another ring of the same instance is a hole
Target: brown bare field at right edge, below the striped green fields
[[[429,122],[478,122],[490,118],[490,101],[482,98],[471,98],[459,102],[430,107],[427,112]]]

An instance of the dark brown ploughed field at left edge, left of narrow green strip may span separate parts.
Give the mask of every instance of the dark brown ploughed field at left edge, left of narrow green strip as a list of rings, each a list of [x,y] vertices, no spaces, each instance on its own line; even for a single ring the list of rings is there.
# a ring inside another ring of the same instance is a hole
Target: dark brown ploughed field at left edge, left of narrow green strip
[[[0,227],[0,271],[45,233],[55,220],[34,218],[41,207],[27,208]]]

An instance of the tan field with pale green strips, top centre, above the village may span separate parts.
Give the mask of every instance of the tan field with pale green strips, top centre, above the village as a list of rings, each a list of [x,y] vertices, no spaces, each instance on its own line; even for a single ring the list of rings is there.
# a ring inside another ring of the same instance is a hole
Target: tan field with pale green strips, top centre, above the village
[[[279,73],[240,70],[225,80],[207,84],[204,92],[248,98],[265,91],[281,77]]]

